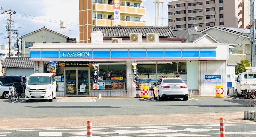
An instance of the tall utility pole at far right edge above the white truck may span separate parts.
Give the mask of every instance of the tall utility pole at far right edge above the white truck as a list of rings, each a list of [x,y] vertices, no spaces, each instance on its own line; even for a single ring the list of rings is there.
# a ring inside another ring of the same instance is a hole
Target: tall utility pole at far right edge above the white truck
[[[254,32],[254,0],[250,0],[250,46],[251,46],[251,67],[255,67],[255,32]]]

